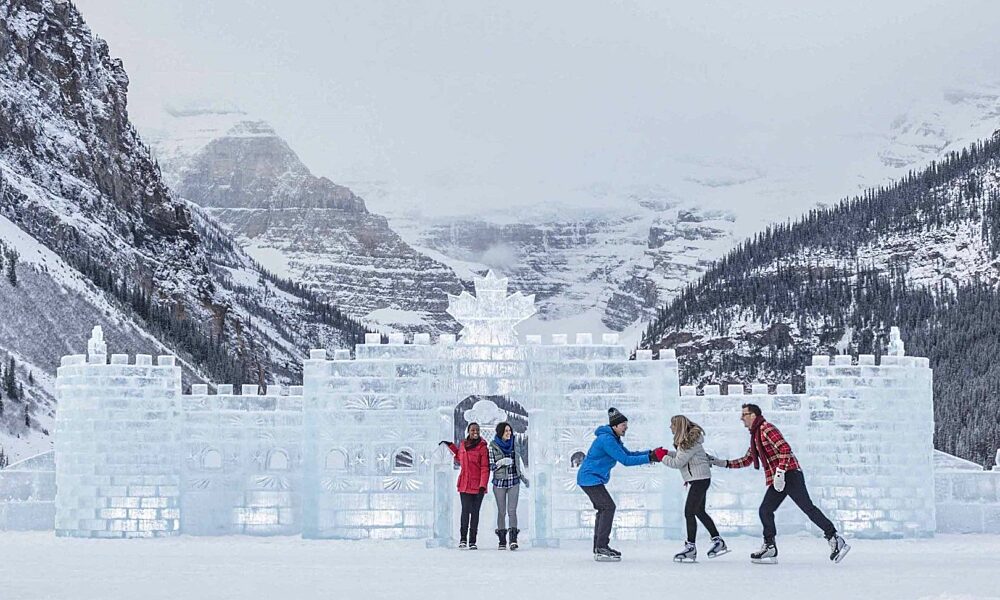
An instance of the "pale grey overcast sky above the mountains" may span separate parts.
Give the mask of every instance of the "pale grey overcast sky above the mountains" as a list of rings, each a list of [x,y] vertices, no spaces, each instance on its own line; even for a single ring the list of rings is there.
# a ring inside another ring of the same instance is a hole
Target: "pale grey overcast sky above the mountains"
[[[1000,2],[986,0],[76,4],[123,58],[140,129],[164,104],[232,102],[335,181],[663,183],[678,160],[794,165],[1000,74]]]

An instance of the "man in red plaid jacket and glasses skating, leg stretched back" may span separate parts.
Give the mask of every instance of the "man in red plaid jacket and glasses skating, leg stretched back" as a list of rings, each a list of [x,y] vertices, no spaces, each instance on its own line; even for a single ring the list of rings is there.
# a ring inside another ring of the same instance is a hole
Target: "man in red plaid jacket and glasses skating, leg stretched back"
[[[764,526],[764,545],[758,552],[750,555],[755,563],[778,562],[778,547],[774,543],[777,530],[774,527],[774,511],[781,506],[786,496],[809,517],[809,520],[823,530],[823,535],[830,543],[830,560],[840,562],[850,551],[844,538],[837,535],[837,528],[826,518],[811,498],[806,489],[806,480],[799,467],[799,461],[792,453],[785,436],[777,427],[764,419],[760,407],[756,404],[744,404],[740,420],[750,430],[750,449],[743,458],[722,460],[710,457],[712,464],[729,469],[742,469],[753,465],[760,469],[764,463],[764,478],[767,492],[760,503],[760,522]]]

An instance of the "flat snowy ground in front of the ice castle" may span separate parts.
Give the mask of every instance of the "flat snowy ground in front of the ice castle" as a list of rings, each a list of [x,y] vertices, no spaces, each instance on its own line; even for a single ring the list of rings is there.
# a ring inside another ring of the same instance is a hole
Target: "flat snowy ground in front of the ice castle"
[[[839,565],[826,560],[819,538],[780,538],[775,566],[749,564],[756,539],[730,541],[727,556],[678,565],[670,562],[676,544],[667,542],[619,544],[625,560],[607,564],[579,542],[501,554],[428,550],[423,542],[0,533],[0,598],[1000,598],[1000,536],[855,541]]]

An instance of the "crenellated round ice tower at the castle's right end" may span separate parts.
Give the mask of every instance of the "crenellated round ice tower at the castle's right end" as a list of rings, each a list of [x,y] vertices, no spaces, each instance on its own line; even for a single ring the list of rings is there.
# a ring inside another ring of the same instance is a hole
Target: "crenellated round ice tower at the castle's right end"
[[[935,530],[934,400],[926,358],[814,357],[806,367],[809,491],[858,537]]]

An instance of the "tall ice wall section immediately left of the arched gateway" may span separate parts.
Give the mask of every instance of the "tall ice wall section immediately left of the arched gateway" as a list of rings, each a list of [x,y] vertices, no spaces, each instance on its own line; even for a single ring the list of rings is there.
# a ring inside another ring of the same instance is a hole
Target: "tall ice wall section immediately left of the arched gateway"
[[[404,344],[372,335],[304,365],[303,535],[432,536],[432,453],[439,434],[436,360],[428,336]]]

